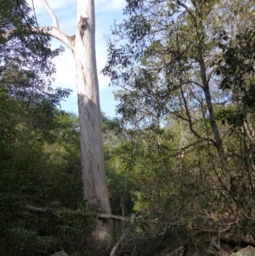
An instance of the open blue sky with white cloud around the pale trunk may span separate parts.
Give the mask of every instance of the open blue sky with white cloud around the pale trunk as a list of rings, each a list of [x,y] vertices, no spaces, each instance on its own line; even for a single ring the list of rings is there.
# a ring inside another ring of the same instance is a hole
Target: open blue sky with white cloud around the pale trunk
[[[32,0],[27,0],[32,6]],[[69,36],[75,33],[77,20],[77,4],[75,0],[48,0],[48,4],[54,11],[59,22],[59,28]],[[106,63],[107,47],[104,36],[110,35],[110,27],[114,20],[121,22],[124,17],[122,10],[125,7],[125,0],[95,0],[96,8],[96,59],[98,73]],[[40,0],[34,0],[36,17],[40,26],[52,26],[52,20],[47,11],[43,8]],[[59,47],[61,42],[52,40],[52,47]],[[64,46],[64,45],[63,45]],[[54,87],[69,88],[73,93],[66,102],[61,103],[61,109],[78,113],[77,90],[75,86],[75,61],[71,52],[66,49],[61,56],[54,59],[57,67],[57,73],[54,74]],[[101,74],[98,74],[100,105],[101,110],[106,116],[115,116],[115,105],[112,94],[113,87],[109,87],[110,80]]]

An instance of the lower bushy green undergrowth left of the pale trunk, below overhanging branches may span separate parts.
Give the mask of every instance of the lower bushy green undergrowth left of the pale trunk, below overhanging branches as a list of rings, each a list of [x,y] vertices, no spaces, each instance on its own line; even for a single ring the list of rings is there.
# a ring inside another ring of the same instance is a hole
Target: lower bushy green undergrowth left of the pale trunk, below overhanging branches
[[[96,217],[80,203],[78,118],[57,114],[53,122],[50,140],[38,140],[36,130],[22,130],[1,154],[1,250],[11,255],[53,253],[59,247],[85,253],[90,248]],[[26,204],[54,209],[54,215],[31,212]]]

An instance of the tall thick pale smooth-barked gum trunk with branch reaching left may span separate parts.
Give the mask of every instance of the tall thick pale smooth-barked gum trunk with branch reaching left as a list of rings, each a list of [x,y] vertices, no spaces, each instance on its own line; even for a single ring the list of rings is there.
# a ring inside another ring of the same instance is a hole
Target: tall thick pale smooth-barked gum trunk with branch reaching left
[[[98,207],[103,213],[111,214],[103,158],[94,0],[77,0],[77,29],[73,36],[68,36],[59,29],[57,17],[47,1],[41,2],[52,18],[53,26],[33,27],[33,31],[62,41],[75,58],[84,201],[87,207]],[[98,241],[111,237],[112,221],[100,221],[96,226],[95,236]]]

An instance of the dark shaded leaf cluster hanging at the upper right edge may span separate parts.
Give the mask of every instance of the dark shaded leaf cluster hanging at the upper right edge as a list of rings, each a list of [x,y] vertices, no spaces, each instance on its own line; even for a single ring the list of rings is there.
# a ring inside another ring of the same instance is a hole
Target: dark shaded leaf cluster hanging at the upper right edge
[[[221,34],[219,43],[222,57],[218,61],[217,75],[222,76],[219,87],[231,89],[233,100],[241,103],[244,109],[254,110],[254,25],[229,40],[226,33]]]

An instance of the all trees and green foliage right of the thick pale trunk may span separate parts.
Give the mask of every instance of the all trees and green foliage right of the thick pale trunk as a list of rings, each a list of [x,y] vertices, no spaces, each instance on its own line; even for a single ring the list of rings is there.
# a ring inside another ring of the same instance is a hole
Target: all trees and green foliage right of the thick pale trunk
[[[108,41],[133,211],[190,237],[254,233],[254,1],[234,2],[128,0]]]

